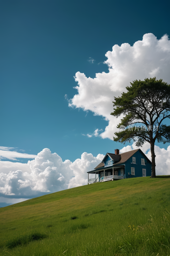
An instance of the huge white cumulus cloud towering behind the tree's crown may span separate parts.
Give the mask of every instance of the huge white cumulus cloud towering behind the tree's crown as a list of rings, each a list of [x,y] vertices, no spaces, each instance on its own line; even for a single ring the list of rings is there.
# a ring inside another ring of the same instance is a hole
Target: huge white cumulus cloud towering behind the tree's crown
[[[103,116],[108,125],[100,136],[113,140],[116,126],[122,118],[116,119],[110,115],[113,112],[114,96],[118,97],[126,92],[125,87],[136,79],[144,80],[146,77],[156,76],[157,79],[162,78],[170,83],[170,41],[167,35],[157,39],[152,33],[148,33],[133,46],[127,43],[121,46],[115,44],[112,51],[108,51],[105,56],[108,73],[97,73],[95,78],[76,73],[75,81],[78,86],[75,89],[78,94],[69,100],[69,106]]]

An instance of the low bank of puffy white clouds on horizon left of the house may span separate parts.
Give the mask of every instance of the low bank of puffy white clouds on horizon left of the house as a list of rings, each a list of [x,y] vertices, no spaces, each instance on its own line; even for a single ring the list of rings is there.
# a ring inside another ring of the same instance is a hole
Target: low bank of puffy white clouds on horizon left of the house
[[[83,153],[81,159],[73,163],[70,160],[63,162],[56,153],[52,154],[48,148],[44,148],[35,159],[28,161],[27,167],[22,163],[1,161],[0,196],[31,198],[85,185],[87,171],[93,170],[102,158],[100,154],[94,157]],[[21,170],[15,170],[17,166]],[[7,173],[7,170],[10,172]]]

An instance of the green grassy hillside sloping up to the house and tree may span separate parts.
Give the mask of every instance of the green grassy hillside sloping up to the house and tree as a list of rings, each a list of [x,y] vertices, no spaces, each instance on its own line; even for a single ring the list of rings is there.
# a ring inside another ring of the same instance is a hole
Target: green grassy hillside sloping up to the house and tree
[[[170,176],[71,188],[0,208],[0,255],[170,255]]]

